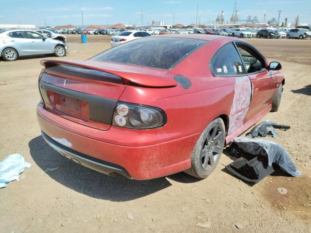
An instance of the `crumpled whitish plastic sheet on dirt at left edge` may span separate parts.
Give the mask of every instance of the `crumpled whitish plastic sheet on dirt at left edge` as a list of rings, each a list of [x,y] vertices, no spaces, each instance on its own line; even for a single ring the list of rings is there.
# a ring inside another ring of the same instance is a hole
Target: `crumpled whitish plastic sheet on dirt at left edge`
[[[0,188],[6,187],[6,183],[17,180],[19,174],[31,164],[25,162],[21,154],[11,154],[0,163]]]

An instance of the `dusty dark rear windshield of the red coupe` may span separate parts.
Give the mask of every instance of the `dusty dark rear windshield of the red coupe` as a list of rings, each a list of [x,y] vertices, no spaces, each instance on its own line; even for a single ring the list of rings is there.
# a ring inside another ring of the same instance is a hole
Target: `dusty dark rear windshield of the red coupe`
[[[206,43],[198,39],[147,37],[106,50],[90,60],[171,69]]]

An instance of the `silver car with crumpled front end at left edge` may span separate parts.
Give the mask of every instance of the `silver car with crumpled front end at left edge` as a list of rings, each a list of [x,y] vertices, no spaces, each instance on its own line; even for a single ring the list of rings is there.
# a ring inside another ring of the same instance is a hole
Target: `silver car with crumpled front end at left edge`
[[[0,31],[0,57],[6,61],[15,61],[18,57],[38,54],[66,55],[65,42],[48,38],[29,30]]]

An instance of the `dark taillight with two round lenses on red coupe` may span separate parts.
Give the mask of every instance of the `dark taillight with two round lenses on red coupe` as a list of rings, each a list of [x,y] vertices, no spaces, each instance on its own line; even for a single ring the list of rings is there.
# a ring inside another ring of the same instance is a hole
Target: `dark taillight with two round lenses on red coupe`
[[[127,102],[117,102],[112,125],[128,129],[153,129],[166,124],[162,109]]]

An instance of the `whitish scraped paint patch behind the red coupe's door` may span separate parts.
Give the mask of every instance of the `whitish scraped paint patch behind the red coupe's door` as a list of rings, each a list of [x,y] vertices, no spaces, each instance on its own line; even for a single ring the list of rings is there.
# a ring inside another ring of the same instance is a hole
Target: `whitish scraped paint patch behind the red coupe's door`
[[[247,76],[236,79],[234,97],[229,116],[228,134],[242,127],[248,112],[252,95],[252,85]]]

